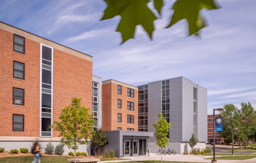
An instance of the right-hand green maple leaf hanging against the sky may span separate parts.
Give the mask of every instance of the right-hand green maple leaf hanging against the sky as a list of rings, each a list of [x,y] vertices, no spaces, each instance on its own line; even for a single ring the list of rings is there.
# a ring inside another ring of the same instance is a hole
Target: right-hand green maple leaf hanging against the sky
[[[174,13],[171,22],[166,28],[171,27],[182,19],[187,19],[189,35],[198,35],[198,31],[205,26],[204,20],[199,13],[203,8],[212,10],[219,7],[215,5],[214,0],[177,0],[172,6]]]

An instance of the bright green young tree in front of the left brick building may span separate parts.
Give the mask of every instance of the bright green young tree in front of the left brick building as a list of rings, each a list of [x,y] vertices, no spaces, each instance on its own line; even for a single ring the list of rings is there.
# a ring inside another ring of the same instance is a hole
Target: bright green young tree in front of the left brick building
[[[89,144],[88,139],[92,138],[94,131],[92,114],[89,109],[81,106],[81,99],[72,98],[72,103],[62,109],[60,121],[54,121],[50,127],[60,132],[60,142],[75,151],[79,145]]]

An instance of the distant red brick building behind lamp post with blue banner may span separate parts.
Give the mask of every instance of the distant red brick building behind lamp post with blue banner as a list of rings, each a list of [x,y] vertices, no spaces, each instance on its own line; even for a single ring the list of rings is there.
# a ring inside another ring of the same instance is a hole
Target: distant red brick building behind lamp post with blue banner
[[[219,114],[215,115],[215,118],[219,117]],[[207,116],[207,144],[213,143],[213,115]],[[222,144],[224,138],[220,137],[220,132],[215,131],[215,143]]]

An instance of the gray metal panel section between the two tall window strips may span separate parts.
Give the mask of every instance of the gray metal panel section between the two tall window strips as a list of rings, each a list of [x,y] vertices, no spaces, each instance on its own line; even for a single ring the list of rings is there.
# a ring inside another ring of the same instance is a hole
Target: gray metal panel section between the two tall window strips
[[[148,132],[154,132],[153,124],[161,112],[161,81],[148,83]],[[155,137],[149,137],[149,142],[156,142]]]

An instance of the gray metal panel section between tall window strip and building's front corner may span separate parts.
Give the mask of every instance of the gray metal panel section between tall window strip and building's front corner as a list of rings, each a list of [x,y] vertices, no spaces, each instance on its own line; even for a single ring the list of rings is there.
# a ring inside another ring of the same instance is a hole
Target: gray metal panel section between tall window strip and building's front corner
[[[170,80],[170,142],[182,141],[182,77]]]

